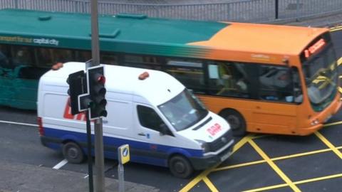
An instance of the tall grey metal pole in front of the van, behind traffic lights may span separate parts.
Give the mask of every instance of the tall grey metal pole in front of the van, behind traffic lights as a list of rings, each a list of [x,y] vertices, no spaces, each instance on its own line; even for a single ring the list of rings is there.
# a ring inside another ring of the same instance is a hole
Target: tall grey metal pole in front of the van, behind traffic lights
[[[100,65],[100,46],[98,42],[98,1],[91,0],[91,55],[92,66]],[[105,161],[103,155],[103,127],[102,118],[96,119],[95,133],[95,191],[105,191]]]

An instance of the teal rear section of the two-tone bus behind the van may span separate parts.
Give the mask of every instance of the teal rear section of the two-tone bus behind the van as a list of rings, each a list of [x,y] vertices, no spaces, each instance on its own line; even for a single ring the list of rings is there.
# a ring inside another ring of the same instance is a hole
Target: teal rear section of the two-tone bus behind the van
[[[100,62],[142,68],[168,56],[196,58],[203,50],[186,43],[205,40],[227,26],[131,14],[99,16],[98,22]],[[58,62],[91,58],[88,14],[3,9],[0,26],[0,105],[35,110],[43,73]]]

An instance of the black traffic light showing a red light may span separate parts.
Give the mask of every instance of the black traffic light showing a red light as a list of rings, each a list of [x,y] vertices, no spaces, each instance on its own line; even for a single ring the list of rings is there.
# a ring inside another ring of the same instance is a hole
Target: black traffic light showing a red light
[[[88,83],[89,83],[89,95],[90,100],[90,119],[96,119],[98,117],[107,117],[107,111],[105,105],[105,75],[103,66],[95,66],[88,68]]]

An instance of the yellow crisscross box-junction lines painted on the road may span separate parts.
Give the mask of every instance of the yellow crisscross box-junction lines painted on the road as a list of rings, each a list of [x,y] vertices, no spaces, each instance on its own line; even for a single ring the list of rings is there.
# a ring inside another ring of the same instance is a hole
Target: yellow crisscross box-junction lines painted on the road
[[[333,122],[330,124],[325,124],[324,127],[329,127],[329,126],[336,125],[336,124],[342,124],[342,121],[341,122]],[[276,164],[274,164],[274,161],[279,161],[279,160],[283,160],[283,159],[291,159],[291,158],[295,158],[295,157],[299,157],[299,156],[309,156],[312,154],[320,154],[320,153],[324,153],[324,152],[328,152],[328,151],[333,151],[337,156],[339,156],[342,159],[342,153],[338,150],[338,149],[342,149],[342,146],[333,146],[333,144],[331,144],[331,142],[328,142],[328,139],[323,137],[323,135],[319,132],[316,132],[315,135],[316,135],[316,137],[318,137],[318,139],[321,140],[321,142],[323,142],[324,144],[326,144],[326,146],[328,146],[328,149],[319,149],[319,150],[308,151],[308,152],[299,153],[299,154],[291,154],[291,155],[287,155],[287,156],[279,156],[276,158],[269,158],[269,156],[267,156],[264,153],[264,151],[262,151],[259,148],[259,146],[257,146],[257,144],[253,141],[253,139],[259,139],[261,137],[268,137],[269,135],[249,134],[247,137],[244,137],[237,144],[235,144],[234,149],[233,149],[233,154],[235,151],[237,151],[242,146],[244,146],[244,144],[249,143],[259,153],[259,155],[263,158],[263,160],[251,161],[251,162],[247,162],[247,163],[243,163],[243,164],[235,164],[235,165],[230,165],[230,166],[223,166],[223,167],[219,167],[219,168],[217,168],[217,166],[219,166],[219,165],[214,166],[214,167],[212,167],[212,169],[207,169],[206,171],[203,171],[202,174],[199,174],[199,176],[197,176],[192,181],[190,181],[190,183],[188,183],[187,186],[182,188],[182,190],[180,190],[180,191],[181,192],[190,191],[200,181],[204,181],[204,183],[207,185],[207,187],[210,189],[210,191],[218,191],[217,188],[212,183],[212,181],[210,181],[209,178],[207,177],[208,174],[210,174],[214,171],[224,171],[227,169],[236,169],[239,167],[252,166],[255,164],[264,164],[264,163],[269,164],[269,166],[271,166],[271,168],[274,169],[274,171],[276,171],[276,174],[278,174],[285,181],[285,183],[277,184],[274,186],[265,186],[262,188],[254,188],[254,189],[248,190],[248,192],[265,191],[265,190],[270,190],[270,189],[274,189],[274,188],[283,188],[283,187],[290,187],[290,188],[292,188],[293,191],[300,191],[299,188],[297,188],[297,186],[296,186],[298,184],[310,183],[310,182],[314,182],[314,181],[322,181],[322,180],[326,180],[326,179],[342,177],[342,174],[334,174],[334,175],[322,176],[322,177],[318,177],[318,178],[309,178],[309,179],[302,180],[302,181],[291,181],[284,174],[284,172],[281,171],[281,169],[279,169],[279,167],[276,166]]]

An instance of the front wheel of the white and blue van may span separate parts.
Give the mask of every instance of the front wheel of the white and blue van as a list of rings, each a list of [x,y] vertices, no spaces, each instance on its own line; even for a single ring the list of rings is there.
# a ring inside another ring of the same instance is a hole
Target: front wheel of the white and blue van
[[[169,161],[169,169],[172,175],[178,178],[188,178],[194,172],[190,162],[183,156],[172,156]]]

